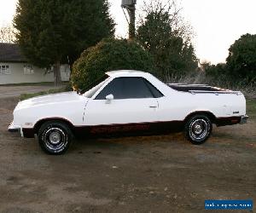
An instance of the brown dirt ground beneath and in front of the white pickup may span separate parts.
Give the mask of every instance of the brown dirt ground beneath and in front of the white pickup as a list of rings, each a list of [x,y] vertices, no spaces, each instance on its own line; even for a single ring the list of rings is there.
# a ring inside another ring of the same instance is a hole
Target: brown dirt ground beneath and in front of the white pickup
[[[7,132],[17,101],[0,99],[0,212],[211,212],[205,199],[253,199],[255,211],[255,119],[214,128],[201,146],[172,134],[76,141],[49,156]]]

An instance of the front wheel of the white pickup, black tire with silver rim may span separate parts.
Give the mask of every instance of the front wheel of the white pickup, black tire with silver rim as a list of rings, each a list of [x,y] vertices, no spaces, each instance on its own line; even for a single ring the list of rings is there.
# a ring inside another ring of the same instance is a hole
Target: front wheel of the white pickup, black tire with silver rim
[[[70,146],[73,134],[67,124],[61,121],[49,121],[38,130],[38,142],[45,153],[59,155]]]

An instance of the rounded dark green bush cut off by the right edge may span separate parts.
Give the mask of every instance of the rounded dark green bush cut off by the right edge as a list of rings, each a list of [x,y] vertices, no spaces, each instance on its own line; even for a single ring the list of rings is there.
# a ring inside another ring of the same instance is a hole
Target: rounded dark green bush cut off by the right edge
[[[229,51],[226,61],[230,74],[256,80],[256,34],[242,35]]]

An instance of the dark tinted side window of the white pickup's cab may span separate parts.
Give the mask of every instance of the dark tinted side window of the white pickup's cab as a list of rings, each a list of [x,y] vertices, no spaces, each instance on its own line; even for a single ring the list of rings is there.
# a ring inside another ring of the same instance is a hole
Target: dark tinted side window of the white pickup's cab
[[[154,98],[144,78],[114,78],[96,96],[96,100],[104,100],[110,94],[113,95],[114,99]]]

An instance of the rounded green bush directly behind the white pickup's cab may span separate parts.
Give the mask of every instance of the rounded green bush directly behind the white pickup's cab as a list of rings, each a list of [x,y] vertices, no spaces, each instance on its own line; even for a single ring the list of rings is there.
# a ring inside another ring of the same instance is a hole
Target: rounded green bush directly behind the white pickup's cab
[[[84,89],[104,72],[113,70],[153,70],[151,56],[136,42],[125,39],[103,39],[95,47],[84,50],[73,64],[72,84]]]

